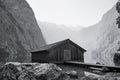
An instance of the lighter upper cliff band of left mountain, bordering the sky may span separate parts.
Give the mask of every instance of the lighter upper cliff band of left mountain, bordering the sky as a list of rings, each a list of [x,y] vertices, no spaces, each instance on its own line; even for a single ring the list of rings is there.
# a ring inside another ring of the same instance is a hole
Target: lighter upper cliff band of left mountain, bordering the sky
[[[25,0],[1,0],[1,3],[19,24],[17,34],[25,49],[35,50],[45,44],[34,13]]]

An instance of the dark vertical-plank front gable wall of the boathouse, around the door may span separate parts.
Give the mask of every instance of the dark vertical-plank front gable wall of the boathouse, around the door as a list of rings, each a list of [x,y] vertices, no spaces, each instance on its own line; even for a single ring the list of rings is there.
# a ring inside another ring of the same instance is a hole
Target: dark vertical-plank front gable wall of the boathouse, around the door
[[[71,60],[72,61],[81,61],[84,62],[84,53],[80,48],[75,45],[72,45],[70,42],[66,42],[65,44],[61,44],[50,51],[50,59],[51,61],[64,61],[64,50],[71,50]]]

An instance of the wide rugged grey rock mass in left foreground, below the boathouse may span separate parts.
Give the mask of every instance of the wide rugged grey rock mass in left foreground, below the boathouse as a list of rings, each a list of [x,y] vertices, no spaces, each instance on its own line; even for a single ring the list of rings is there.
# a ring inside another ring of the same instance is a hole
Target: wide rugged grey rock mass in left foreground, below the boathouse
[[[65,80],[67,74],[55,64],[6,63],[0,69],[0,80]]]

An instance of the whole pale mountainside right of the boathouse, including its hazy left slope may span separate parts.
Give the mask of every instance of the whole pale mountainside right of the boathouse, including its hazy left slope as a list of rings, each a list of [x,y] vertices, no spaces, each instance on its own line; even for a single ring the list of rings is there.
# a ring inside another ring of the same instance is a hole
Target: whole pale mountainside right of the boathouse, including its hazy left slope
[[[103,15],[101,21],[79,31],[76,40],[81,40],[81,45],[87,49],[86,62],[100,62],[106,65],[114,65],[114,54],[118,49],[120,30],[116,19],[118,13],[115,6]],[[78,41],[78,42],[79,42]]]

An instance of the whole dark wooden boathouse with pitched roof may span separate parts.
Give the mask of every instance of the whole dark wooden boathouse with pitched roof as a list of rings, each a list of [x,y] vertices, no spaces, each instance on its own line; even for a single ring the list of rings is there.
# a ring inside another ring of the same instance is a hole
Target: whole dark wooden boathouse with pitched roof
[[[85,49],[70,39],[41,47],[32,53],[32,62],[63,63],[64,61],[84,62]]]

